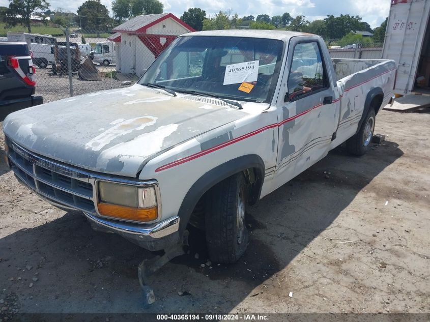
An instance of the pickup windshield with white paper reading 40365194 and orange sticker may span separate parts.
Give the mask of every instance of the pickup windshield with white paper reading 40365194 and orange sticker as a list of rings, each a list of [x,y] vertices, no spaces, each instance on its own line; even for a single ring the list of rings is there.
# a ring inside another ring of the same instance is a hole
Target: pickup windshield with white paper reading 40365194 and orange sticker
[[[276,86],[283,43],[274,39],[178,37],[140,78],[176,92],[268,103]]]

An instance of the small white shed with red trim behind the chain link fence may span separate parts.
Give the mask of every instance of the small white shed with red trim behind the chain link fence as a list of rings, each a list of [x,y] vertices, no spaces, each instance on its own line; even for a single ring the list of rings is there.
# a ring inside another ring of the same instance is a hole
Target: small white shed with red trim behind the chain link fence
[[[179,35],[194,29],[171,13],[134,17],[113,28],[109,41],[118,43],[117,72],[141,76]]]

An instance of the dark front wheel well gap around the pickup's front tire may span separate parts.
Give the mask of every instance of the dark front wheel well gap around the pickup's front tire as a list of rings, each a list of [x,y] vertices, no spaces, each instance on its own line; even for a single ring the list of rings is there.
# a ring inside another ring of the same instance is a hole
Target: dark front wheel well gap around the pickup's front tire
[[[248,195],[248,202],[249,204],[254,204],[257,202],[260,198],[260,191],[261,191],[261,185],[263,184],[262,179],[264,173],[260,173],[259,168],[247,168],[245,170],[239,171],[237,173],[243,173],[243,175],[246,178],[246,181],[248,182],[249,187],[249,195]],[[237,173],[233,174],[236,175]],[[231,177],[233,176],[231,175]],[[230,177],[227,177],[230,178]],[[225,178],[224,180],[226,180]],[[218,184],[218,183],[217,183]],[[216,184],[216,185],[217,185]],[[216,186],[214,185],[214,186]],[[205,200],[208,197],[208,194],[210,194],[211,189],[214,187],[212,186],[209,188],[202,197],[197,201],[191,216],[189,223],[199,229],[204,230],[205,227]]]

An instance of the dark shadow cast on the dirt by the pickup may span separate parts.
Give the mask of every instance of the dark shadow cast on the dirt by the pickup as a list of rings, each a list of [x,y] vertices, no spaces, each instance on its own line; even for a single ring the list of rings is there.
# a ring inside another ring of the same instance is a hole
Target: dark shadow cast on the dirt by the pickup
[[[335,149],[260,200],[248,216],[249,249],[237,264],[201,267],[207,261],[204,236],[192,230],[189,254],[152,277],[157,301],[149,309],[142,308],[137,265],[153,254],[119,236],[93,231],[73,213],[1,239],[0,286],[17,296],[20,312],[229,312],[245,298],[260,296],[258,286],[273,283],[271,277],[403,155],[396,143],[384,143],[361,158]],[[324,171],[330,171],[329,178]],[[32,281],[35,276],[38,280]]]

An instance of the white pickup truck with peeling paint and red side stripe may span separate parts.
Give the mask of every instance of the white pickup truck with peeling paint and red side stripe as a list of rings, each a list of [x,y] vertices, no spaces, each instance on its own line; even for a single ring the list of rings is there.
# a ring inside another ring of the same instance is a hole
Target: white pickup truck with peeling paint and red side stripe
[[[206,230],[212,261],[230,263],[248,244],[248,204],[343,142],[368,150],[395,69],[331,60],[310,34],[190,33],[131,87],[10,114],[7,159],[48,202],[164,249],[143,275],[182,253],[188,224]]]

